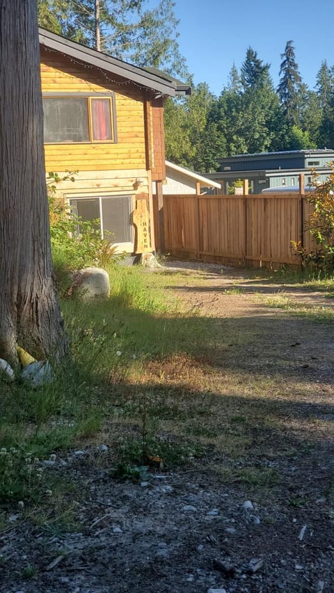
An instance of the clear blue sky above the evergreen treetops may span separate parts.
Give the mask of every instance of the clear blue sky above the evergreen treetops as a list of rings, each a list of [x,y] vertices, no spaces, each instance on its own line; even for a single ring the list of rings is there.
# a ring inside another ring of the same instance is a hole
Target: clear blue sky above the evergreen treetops
[[[249,46],[271,63],[275,86],[287,40],[294,40],[299,72],[310,88],[322,60],[334,65],[334,0],[175,0],[175,15],[180,51],[195,83],[207,82],[216,95]]]

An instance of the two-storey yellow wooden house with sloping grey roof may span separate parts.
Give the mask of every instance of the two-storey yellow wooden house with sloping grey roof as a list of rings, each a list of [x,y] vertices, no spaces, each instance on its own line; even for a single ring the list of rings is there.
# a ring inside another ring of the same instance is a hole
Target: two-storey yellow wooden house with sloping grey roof
[[[45,168],[58,197],[129,253],[155,249],[152,181],[166,178],[164,97],[189,86],[40,29]],[[156,225],[155,227],[158,227]]]

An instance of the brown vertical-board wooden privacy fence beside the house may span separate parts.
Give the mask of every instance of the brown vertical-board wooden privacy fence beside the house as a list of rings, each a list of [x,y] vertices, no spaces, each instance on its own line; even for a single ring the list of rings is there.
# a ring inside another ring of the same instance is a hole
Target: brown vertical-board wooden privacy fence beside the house
[[[300,267],[292,241],[315,247],[305,231],[309,212],[299,193],[164,195],[164,250],[239,266]]]

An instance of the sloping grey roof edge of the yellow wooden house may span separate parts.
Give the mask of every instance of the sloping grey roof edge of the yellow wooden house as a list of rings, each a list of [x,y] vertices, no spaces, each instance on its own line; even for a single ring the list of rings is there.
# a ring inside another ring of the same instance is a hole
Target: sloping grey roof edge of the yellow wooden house
[[[106,72],[122,76],[138,86],[159,92],[161,95],[175,97],[176,95],[189,95],[191,87],[168,74],[156,69],[141,68],[102,54],[96,49],[70,41],[51,33],[46,29],[39,29],[40,44],[49,50],[59,51],[72,59],[81,60],[90,66],[96,66]],[[159,72],[159,74],[158,74]]]

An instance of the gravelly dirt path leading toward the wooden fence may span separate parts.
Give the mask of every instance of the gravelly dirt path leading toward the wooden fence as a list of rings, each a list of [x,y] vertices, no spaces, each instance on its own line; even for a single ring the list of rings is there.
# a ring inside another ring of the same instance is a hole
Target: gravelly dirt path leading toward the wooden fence
[[[152,362],[143,380],[205,454],[118,482],[115,424],[103,452],[58,457],[49,471],[81,490],[77,526],[49,533],[13,513],[0,535],[4,592],[334,591],[334,327],[321,320],[333,300],[230,268],[173,268],[170,290],[210,318],[212,340],[200,356]],[[292,303],[275,308],[273,295]],[[176,442],[168,414],[162,436]]]

